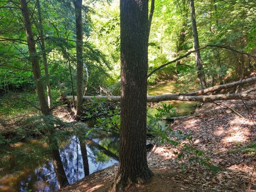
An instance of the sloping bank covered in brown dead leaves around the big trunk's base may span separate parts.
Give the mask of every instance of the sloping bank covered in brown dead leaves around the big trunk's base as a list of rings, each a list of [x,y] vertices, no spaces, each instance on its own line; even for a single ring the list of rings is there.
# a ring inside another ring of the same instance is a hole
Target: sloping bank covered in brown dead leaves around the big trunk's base
[[[214,174],[195,162],[186,162],[181,168],[173,153],[177,149],[158,145],[152,153],[149,151],[148,164],[155,174],[152,182],[132,185],[125,191],[256,191],[256,170],[252,175],[256,162],[255,117],[256,101],[205,103],[169,128],[193,135],[193,146],[203,150],[221,171]],[[117,169],[114,165],[95,172],[61,191],[108,191]],[[247,190],[250,183],[251,190]]]

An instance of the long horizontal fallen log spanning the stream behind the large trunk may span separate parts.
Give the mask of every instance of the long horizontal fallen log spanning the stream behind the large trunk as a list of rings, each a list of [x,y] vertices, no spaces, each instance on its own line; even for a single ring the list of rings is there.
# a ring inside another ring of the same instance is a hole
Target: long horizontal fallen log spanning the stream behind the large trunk
[[[73,100],[72,95],[65,97],[68,100]],[[76,99],[76,96],[75,96]],[[198,101],[198,102],[213,102],[220,100],[252,100],[256,99],[256,95],[247,94],[247,93],[234,93],[234,94],[217,94],[217,95],[181,95],[181,94],[162,94],[156,96],[148,96],[147,102],[160,102],[160,101]],[[120,102],[120,96],[84,96],[83,101],[92,102],[92,101],[109,101],[109,102]]]

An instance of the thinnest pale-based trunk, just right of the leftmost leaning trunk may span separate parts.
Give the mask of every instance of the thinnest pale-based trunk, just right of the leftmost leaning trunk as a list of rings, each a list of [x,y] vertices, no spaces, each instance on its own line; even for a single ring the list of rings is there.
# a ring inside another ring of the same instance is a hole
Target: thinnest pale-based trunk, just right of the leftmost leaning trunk
[[[36,3],[37,3],[37,11],[38,11],[38,19],[39,19],[39,31],[40,31],[40,39],[41,39],[41,50],[42,50],[42,54],[43,54],[44,73],[46,76],[47,101],[48,101],[49,108],[51,108],[52,107],[52,94],[51,94],[51,87],[50,87],[50,76],[49,76],[49,71],[48,71],[47,57],[46,57],[46,52],[45,52],[41,5],[40,5],[39,0],[37,0]]]

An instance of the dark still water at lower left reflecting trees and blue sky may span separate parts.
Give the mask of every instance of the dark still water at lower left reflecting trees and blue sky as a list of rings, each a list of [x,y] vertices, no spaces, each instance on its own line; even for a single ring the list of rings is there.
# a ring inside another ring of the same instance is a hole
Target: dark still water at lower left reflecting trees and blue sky
[[[25,153],[31,148],[31,143],[22,143],[18,154],[5,151],[1,155],[0,191],[58,190],[60,182],[65,180],[61,169],[65,170],[69,184],[73,184],[86,175],[118,163],[118,140],[112,137],[83,140],[81,137],[71,136],[51,155],[44,153],[40,141],[37,144],[41,148],[35,147],[38,148],[38,153],[31,150],[31,154]],[[10,161],[2,161],[3,158],[9,158]]]

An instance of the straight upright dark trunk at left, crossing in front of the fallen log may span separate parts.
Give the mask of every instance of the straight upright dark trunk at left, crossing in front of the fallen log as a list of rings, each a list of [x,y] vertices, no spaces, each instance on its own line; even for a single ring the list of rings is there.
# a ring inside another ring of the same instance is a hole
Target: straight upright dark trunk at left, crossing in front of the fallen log
[[[76,12],[76,62],[77,62],[77,89],[76,115],[82,114],[83,109],[83,26],[82,0],[73,0]]]

